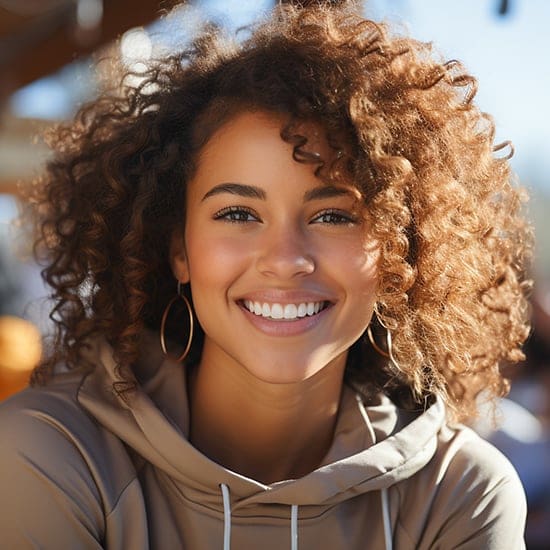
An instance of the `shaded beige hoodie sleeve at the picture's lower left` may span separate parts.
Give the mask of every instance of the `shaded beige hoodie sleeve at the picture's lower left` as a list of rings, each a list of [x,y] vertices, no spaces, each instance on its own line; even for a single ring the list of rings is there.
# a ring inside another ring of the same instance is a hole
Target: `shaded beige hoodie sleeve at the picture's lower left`
[[[32,394],[27,390],[0,404],[2,546],[102,548],[99,491],[77,441],[59,420],[74,411]]]

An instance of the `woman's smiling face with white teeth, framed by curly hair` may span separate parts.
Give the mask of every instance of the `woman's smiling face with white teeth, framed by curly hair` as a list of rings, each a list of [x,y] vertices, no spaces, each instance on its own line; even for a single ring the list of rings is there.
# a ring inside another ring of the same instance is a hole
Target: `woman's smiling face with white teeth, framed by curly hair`
[[[376,243],[357,191],[328,186],[296,162],[282,116],[245,111],[206,143],[187,190],[176,277],[190,282],[205,361],[272,383],[344,368],[372,315]],[[306,150],[330,162],[322,129]]]

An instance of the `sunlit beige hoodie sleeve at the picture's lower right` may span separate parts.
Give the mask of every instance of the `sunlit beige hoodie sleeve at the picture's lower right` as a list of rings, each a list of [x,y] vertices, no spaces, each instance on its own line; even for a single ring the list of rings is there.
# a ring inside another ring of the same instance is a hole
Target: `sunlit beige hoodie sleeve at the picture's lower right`
[[[418,548],[524,549],[525,492],[508,459],[469,429],[460,430],[438,455]]]

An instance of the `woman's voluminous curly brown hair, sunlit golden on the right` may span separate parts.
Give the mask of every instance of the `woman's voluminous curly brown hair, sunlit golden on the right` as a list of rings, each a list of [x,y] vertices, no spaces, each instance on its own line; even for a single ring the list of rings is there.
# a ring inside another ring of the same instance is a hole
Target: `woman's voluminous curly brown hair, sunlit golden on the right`
[[[58,361],[81,364],[102,335],[119,389],[135,387],[141,334],[159,329],[174,295],[170,237],[183,231],[197,154],[233,114],[259,109],[317,121],[331,146],[347,144],[338,162],[382,243],[371,329],[379,341],[391,331],[393,361],[362,338],[348,379],[416,404],[439,395],[455,418],[474,415],[481,392],[506,392],[500,365],[522,358],[531,245],[523,192],[475,94],[459,62],[351,5],[280,6],[241,42],[207,27],[141,84],[105,93],[50,133],[55,156],[34,186],[56,339],[33,381]],[[311,161],[292,123],[281,137]]]

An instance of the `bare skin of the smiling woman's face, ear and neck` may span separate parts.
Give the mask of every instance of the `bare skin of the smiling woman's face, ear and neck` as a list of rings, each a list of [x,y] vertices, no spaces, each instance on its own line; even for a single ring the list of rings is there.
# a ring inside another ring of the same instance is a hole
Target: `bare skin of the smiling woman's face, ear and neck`
[[[357,191],[293,160],[284,124],[245,111],[214,133],[188,184],[184,239],[171,250],[205,332],[190,377],[191,440],[264,483],[322,461],[348,349],[370,322],[377,287],[377,246]],[[300,133],[330,160],[319,125]],[[254,304],[291,318],[256,315]],[[319,312],[297,317],[307,304]]]

